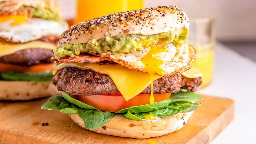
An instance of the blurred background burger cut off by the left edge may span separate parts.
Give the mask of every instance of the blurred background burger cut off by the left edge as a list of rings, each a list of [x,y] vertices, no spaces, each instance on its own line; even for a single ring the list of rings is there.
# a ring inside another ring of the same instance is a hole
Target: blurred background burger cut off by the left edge
[[[55,0],[0,1],[0,100],[59,93],[51,84],[51,57],[67,28]]]

